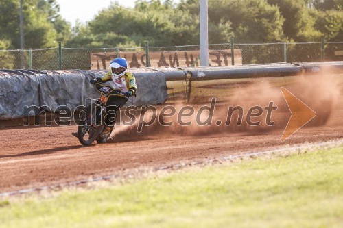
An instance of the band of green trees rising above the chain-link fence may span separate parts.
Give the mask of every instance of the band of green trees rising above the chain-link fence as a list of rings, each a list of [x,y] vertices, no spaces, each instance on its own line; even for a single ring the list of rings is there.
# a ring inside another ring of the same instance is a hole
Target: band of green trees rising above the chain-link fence
[[[209,0],[209,43],[343,40],[343,0]],[[23,1],[25,48],[198,45],[199,1],[111,3],[89,23],[70,23],[56,0]],[[19,49],[19,1],[0,1],[0,40]],[[4,47],[4,45],[2,45]]]

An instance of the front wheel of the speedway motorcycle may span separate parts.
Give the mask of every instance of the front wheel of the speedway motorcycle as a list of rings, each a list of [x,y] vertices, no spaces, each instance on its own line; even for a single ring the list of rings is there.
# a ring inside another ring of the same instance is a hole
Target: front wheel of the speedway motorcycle
[[[84,146],[92,144],[104,129],[104,125],[97,125],[99,112],[99,107],[96,107],[95,105],[89,105],[80,116],[78,139]]]

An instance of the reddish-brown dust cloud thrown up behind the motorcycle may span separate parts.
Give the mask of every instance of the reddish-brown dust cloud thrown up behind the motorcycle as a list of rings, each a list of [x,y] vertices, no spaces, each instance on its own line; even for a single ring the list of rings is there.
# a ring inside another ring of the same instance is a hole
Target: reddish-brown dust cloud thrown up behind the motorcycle
[[[308,126],[324,125],[334,110],[343,109],[342,75],[316,73],[285,79],[282,84],[265,78],[233,88],[233,95],[225,101],[213,97],[209,103],[178,103],[137,110],[130,124],[121,122],[115,127],[113,142],[273,131],[279,137],[291,116],[281,86],[317,113]]]

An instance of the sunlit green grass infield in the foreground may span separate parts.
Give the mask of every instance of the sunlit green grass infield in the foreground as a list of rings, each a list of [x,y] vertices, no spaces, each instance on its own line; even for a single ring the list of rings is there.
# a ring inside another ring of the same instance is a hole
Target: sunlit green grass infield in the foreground
[[[0,200],[0,227],[343,227],[343,148]]]

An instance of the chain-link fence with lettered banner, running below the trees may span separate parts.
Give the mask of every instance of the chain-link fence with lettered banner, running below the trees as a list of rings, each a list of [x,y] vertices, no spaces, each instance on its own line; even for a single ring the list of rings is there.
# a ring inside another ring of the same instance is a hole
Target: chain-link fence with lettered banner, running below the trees
[[[105,70],[116,57],[126,58],[129,68],[200,66],[200,45],[0,50],[0,69]],[[343,61],[343,42],[209,45],[209,66],[320,61]]]

